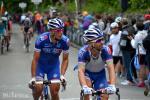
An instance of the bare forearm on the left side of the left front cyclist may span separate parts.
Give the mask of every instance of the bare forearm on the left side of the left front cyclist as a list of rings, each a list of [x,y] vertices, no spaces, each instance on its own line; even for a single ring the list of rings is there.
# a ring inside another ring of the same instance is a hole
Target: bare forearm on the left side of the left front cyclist
[[[36,76],[36,65],[40,57],[40,52],[34,51],[33,60],[31,64],[31,75],[32,77]]]

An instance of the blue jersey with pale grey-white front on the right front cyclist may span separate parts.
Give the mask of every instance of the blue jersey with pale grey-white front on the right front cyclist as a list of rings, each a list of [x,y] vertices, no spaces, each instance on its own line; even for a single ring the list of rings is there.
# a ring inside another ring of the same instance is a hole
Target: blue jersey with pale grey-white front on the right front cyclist
[[[78,53],[78,64],[85,65],[85,69],[90,72],[100,72],[105,68],[105,64],[112,61],[112,55],[107,46],[102,47],[98,58],[92,57],[88,45],[83,46]]]

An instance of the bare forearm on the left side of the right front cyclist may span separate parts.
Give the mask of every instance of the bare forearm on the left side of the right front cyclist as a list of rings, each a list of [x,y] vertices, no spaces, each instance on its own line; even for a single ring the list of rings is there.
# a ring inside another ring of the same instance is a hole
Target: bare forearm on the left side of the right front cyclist
[[[87,85],[84,73],[85,73],[85,65],[82,63],[79,63],[78,64],[78,77],[79,77],[80,84],[82,86]]]

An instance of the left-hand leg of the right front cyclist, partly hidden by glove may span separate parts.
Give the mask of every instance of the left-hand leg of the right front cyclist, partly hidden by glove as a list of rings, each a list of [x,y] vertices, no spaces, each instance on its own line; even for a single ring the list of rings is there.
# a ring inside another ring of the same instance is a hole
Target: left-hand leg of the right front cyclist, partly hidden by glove
[[[85,71],[85,79],[87,86],[92,88],[92,77],[88,71]],[[84,100],[90,100],[90,95],[84,95]]]

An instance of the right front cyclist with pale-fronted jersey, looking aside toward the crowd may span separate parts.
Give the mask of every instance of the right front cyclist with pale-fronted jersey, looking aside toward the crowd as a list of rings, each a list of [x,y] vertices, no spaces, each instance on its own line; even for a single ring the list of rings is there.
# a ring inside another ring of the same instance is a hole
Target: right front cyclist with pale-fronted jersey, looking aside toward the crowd
[[[86,42],[78,53],[78,78],[85,95],[89,100],[92,90],[115,93],[115,71],[112,55],[107,46],[104,46],[104,35],[99,28],[89,28],[83,38]],[[108,69],[109,84],[106,79],[105,66]],[[99,96],[101,100],[108,100],[108,94]]]

